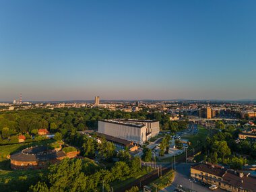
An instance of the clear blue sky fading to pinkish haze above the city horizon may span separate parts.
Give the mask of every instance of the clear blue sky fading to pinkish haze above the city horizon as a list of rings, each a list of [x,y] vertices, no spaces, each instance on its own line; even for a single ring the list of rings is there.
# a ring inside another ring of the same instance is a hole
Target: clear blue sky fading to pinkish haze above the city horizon
[[[256,99],[256,1],[0,1],[0,101]]]

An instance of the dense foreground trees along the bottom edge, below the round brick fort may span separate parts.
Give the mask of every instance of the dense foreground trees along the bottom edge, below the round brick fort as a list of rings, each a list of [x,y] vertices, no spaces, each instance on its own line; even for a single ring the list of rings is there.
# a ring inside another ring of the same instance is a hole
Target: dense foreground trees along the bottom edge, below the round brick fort
[[[115,166],[108,169],[86,165],[79,159],[65,159],[53,164],[47,174],[30,187],[30,191],[100,191],[103,184],[104,189],[110,191],[113,181],[124,181],[141,170],[139,158],[116,162]]]

